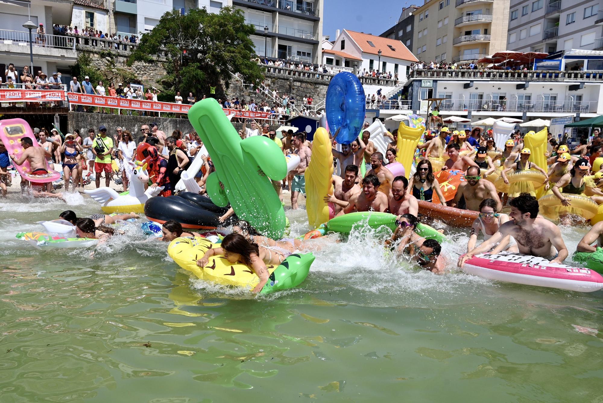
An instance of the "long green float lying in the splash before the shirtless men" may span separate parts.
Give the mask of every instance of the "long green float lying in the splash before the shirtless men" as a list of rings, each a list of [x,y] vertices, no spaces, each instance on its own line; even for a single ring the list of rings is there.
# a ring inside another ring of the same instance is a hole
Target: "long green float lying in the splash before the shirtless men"
[[[396,230],[396,215],[375,211],[363,211],[339,215],[338,217],[327,221],[326,229],[333,232],[350,233],[352,227],[361,221],[367,221],[365,225],[372,229],[378,229],[379,227],[385,226],[392,231]],[[436,240],[440,244],[446,241],[446,236],[444,236],[443,233],[438,232],[434,228],[423,223],[417,224],[415,232],[417,235],[423,236],[423,238]]]

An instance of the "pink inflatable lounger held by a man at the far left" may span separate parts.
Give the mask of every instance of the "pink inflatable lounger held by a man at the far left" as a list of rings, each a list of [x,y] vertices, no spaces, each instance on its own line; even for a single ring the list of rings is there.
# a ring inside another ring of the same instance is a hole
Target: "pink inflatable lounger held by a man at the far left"
[[[25,150],[21,145],[21,139],[28,137],[33,142],[33,147],[42,147],[36,140],[34,133],[31,131],[30,125],[24,119],[4,119],[0,121],[0,141],[4,144],[8,154],[13,154],[17,158],[21,157],[21,153]],[[48,183],[54,182],[61,178],[61,174],[52,170],[52,166],[46,161],[46,171],[43,175],[32,175],[30,163],[26,159],[21,166],[13,163],[13,167],[17,170],[22,178],[33,183]]]

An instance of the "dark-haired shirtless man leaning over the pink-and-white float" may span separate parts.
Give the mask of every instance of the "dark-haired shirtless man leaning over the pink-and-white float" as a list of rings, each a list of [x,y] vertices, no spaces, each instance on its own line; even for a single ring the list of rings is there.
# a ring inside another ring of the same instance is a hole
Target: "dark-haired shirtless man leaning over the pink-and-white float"
[[[532,195],[522,193],[509,203],[511,205],[510,217],[513,219],[502,224],[498,232],[484,241],[480,246],[467,252],[458,260],[458,266],[478,253],[485,253],[494,248],[506,235],[511,235],[517,241],[519,253],[524,255],[540,256],[551,259],[551,262],[561,263],[567,258],[567,247],[561,238],[559,228],[546,220],[538,217],[538,200]],[[499,244],[490,253],[499,253],[505,245]],[[555,253],[557,249],[557,253]]]

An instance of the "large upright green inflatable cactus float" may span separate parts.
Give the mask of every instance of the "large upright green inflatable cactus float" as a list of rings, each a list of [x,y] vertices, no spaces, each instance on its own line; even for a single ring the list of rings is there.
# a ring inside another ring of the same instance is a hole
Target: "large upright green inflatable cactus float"
[[[194,104],[188,118],[216,168],[206,182],[213,203],[224,207],[230,201],[239,218],[280,240],[285,231],[285,211],[270,179],[282,180],[287,174],[283,151],[264,136],[241,140],[213,98]]]

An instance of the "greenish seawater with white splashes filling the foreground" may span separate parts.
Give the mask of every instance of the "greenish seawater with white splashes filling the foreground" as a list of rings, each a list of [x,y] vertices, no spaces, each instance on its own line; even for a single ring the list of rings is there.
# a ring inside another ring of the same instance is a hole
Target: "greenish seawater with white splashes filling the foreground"
[[[353,233],[314,252],[301,288],[251,297],[191,280],[142,220],[94,259],[14,238],[65,209],[0,200],[1,403],[603,402],[601,291],[435,276]],[[287,215],[305,232],[305,211]],[[586,232],[562,231],[570,251]]]

